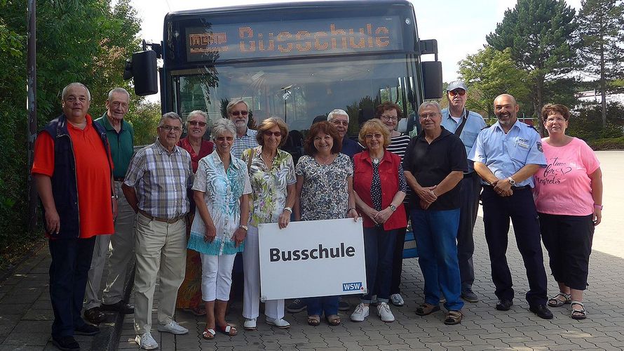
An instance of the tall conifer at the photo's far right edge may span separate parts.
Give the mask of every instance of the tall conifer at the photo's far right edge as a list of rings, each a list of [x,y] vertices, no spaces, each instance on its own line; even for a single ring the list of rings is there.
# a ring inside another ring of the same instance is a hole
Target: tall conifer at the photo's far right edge
[[[606,126],[607,84],[612,79],[624,78],[624,4],[618,2],[582,0],[578,13],[583,72],[599,80],[603,126]]]

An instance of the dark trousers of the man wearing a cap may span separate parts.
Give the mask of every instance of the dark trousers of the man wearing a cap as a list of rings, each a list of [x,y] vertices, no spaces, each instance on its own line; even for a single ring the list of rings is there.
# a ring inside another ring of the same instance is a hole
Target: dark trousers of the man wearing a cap
[[[475,282],[473,253],[475,240],[473,230],[479,211],[479,194],[481,179],[477,173],[470,173],[461,180],[461,207],[459,211],[459,228],[457,230],[457,261],[461,277],[461,290],[468,289]]]

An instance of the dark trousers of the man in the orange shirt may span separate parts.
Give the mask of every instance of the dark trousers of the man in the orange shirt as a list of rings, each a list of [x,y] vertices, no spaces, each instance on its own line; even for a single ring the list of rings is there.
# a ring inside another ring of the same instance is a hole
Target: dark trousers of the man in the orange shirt
[[[85,324],[82,303],[91,267],[95,237],[89,239],[50,239],[50,302],[54,312],[52,336],[73,336]]]

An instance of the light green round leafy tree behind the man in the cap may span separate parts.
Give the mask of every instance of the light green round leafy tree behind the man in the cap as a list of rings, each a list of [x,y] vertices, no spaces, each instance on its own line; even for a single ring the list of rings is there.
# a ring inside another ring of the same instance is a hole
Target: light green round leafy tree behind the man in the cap
[[[497,51],[491,46],[468,55],[459,62],[459,74],[470,87],[466,107],[494,116],[494,99],[507,93],[520,103],[529,98],[529,87],[524,82],[528,74],[515,66],[510,48]]]

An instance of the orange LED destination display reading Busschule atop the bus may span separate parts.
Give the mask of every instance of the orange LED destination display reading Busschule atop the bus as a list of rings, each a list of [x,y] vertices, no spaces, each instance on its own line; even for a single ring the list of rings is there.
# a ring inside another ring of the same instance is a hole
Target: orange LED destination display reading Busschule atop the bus
[[[186,59],[273,58],[402,48],[398,16],[257,22],[186,28]]]

